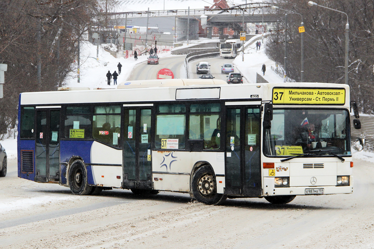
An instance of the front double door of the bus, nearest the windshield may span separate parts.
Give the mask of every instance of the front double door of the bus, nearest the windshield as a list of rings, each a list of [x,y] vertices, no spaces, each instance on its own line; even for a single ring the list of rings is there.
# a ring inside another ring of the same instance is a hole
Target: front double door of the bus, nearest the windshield
[[[260,196],[260,106],[228,107],[225,194]]]

